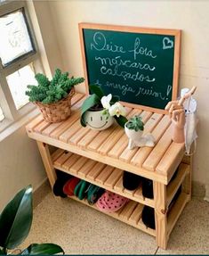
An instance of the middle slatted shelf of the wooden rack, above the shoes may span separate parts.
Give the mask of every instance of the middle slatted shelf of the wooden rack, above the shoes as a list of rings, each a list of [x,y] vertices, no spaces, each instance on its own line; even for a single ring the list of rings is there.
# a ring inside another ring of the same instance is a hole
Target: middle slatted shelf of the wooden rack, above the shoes
[[[123,195],[135,202],[154,207],[154,200],[142,195],[141,186],[130,191],[123,186],[123,170],[110,167],[99,161],[92,161],[83,156],[58,149],[52,154],[55,169],[60,169],[77,178],[82,178],[94,185]]]

